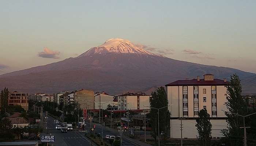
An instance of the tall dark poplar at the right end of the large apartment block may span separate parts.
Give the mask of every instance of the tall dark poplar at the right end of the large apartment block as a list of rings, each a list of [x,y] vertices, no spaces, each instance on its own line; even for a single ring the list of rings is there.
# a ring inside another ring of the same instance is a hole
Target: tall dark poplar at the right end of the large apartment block
[[[226,86],[227,88],[227,102],[225,103],[227,110],[233,113],[240,115],[246,115],[247,105],[246,101],[242,97],[242,86],[240,84],[240,79],[237,74],[231,76],[230,84]],[[227,116],[226,122],[228,127],[225,130],[222,130],[223,135],[228,140],[232,146],[241,146],[243,145],[243,130],[239,127],[243,126],[243,118],[225,112]],[[247,120],[248,121],[248,120]],[[247,122],[246,122],[247,123]]]

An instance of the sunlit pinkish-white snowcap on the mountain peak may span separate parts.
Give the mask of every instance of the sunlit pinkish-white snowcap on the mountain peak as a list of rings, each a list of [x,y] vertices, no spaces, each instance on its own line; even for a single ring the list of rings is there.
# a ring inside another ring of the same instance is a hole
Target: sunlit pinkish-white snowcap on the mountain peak
[[[92,47],[90,50],[79,55],[90,56],[93,54],[105,54],[105,53],[136,53],[136,54],[146,54],[146,55],[155,55],[144,50],[142,47],[134,45],[132,42],[121,39],[121,38],[112,38],[103,43],[98,47]]]

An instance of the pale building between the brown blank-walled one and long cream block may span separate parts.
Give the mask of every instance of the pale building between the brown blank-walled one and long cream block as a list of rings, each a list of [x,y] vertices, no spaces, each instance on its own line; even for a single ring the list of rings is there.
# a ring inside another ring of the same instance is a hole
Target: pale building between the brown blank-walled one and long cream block
[[[111,96],[105,92],[101,92],[101,93],[98,92],[94,95],[94,101],[95,101],[94,107],[95,107],[95,109],[102,108],[103,110],[106,110],[108,104],[110,104],[111,106],[113,106],[113,103],[117,104],[117,102],[114,102],[113,99],[114,99],[114,96]],[[108,102],[108,103],[106,103],[106,102]],[[103,104],[103,103],[105,103],[105,104]],[[101,107],[101,104],[102,104],[102,107]]]

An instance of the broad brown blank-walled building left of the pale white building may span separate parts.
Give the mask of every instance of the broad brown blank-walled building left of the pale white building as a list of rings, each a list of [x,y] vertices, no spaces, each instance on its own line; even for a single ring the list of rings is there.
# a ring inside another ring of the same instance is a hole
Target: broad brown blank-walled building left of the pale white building
[[[83,109],[94,109],[94,91],[81,90],[75,92],[75,101],[77,101]]]

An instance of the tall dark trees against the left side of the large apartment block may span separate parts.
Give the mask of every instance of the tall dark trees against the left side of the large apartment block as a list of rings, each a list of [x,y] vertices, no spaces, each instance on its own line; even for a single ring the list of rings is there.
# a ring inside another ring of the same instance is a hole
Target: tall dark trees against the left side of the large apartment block
[[[162,108],[168,106],[167,95],[164,87],[160,87],[157,91],[151,93],[150,107]],[[151,108],[148,116],[150,117],[150,125],[152,127],[151,135],[157,142],[158,137],[158,110]],[[163,137],[166,139],[167,127],[170,123],[170,111],[168,108],[159,110],[159,131],[163,132]]]

